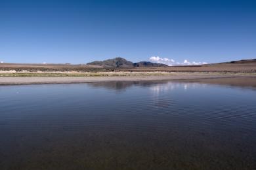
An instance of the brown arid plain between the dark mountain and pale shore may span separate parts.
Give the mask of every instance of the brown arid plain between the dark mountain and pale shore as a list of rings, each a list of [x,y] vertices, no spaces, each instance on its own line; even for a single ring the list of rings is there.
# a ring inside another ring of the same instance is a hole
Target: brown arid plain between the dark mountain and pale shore
[[[161,67],[103,67],[100,65],[79,64],[20,64],[0,63],[1,73],[16,72],[175,72],[175,73],[256,73],[256,59],[213,63],[205,65],[161,66]]]

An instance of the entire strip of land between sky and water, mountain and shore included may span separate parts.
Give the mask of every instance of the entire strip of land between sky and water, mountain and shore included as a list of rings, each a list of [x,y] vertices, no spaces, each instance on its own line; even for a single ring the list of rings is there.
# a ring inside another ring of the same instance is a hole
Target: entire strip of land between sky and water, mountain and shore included
[[[106,61],[106,62],[105,62]],[[99,65],[0,63],[0,84],[53,84],[106,81],[193,80],[248,77],[255,83],[256,59],[206,65],[152,67],[122,58],[96,61]],[[128,67],[128,66],[129,67]],[[153,64],[154,65],[154,64]],[[223,79],[224,80],[224,79]],[[235,84],[243,84],[243,81]],[[207,80],[214,81],[215,80]],[[205,81],[204,81],[205,82]],[[218,80],[219,82],[219,80]],[[223,82],[225,83],[225,82]]]

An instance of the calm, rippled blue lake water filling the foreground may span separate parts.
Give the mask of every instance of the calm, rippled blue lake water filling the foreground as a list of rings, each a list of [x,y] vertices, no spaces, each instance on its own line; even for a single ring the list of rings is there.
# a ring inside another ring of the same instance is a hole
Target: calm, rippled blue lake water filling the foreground
[[[256,169],[256,90],[0,86],[0,169]]]

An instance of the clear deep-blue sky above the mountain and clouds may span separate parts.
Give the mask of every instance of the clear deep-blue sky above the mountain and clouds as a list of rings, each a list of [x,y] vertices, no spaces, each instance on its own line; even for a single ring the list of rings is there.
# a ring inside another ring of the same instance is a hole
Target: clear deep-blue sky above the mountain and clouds
[[[0,0],[0,61],[256,58],[253,1]]]

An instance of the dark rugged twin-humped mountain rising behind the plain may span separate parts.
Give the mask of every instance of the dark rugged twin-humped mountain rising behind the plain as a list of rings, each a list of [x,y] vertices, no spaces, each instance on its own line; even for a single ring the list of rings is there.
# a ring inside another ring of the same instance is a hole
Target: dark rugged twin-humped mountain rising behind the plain
[[[114,59],[106,59],[104,61],[93,61],[91,63],[87,63],[87,65],[98,65],[102,67],[115,67],[115,68],[131,68],[131,67],[163,67],[167,66],[161,63],[151,63],[148,61],[140,61],[138,63],[133,63],[131,61],[127,61],[124,58],[114,58]]]

